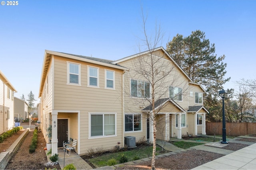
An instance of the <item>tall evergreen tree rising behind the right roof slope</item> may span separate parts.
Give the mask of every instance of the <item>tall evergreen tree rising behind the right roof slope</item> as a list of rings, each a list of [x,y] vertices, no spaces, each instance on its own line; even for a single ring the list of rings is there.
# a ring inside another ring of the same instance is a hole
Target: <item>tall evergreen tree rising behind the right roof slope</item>
[[[201,84],[210,94],[217,95],[222,85],[230,80],[224,78],[227,65],[223,63],[225,56],[216,56],[215,45],[210,44],[200,30],[192,31],[188,37],[177,34],[167,43],[166,51],[193,82]]]

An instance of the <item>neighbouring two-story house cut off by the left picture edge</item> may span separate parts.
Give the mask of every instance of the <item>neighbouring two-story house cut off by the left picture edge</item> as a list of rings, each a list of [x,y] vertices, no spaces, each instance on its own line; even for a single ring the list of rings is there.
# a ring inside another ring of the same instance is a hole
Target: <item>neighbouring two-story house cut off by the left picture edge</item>
[[[14,92],[17,90],[0,70],[0,134],[14,127]]]

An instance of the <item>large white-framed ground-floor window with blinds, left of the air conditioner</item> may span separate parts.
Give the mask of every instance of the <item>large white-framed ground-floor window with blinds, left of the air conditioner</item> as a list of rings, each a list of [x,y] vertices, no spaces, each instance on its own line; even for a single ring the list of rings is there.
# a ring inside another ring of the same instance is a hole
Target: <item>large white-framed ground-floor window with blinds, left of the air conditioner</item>
[[[116,113],[89,113],[90,138],[116,136]]]

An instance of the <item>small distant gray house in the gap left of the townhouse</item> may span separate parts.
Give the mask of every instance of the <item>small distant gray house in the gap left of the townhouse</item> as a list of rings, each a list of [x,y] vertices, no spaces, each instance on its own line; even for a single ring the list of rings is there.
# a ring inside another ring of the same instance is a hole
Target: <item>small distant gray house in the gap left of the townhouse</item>
[[[24,100],[14,97],[14,120],[26,120],[28,118],[28,104]]]

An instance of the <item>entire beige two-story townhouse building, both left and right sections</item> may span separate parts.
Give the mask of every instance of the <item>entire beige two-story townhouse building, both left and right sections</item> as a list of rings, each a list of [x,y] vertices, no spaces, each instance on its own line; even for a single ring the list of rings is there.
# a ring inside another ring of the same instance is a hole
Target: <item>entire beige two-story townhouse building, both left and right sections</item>
[[[157,139],[206,134],[204,92],[163,47],[118,61],[46,50],[38,107],[42,132],[47,140],[52,125],[52,154],[70,138],[77,139],[78,154],[124,147],[127,137],[152,142],[154,109]]]

